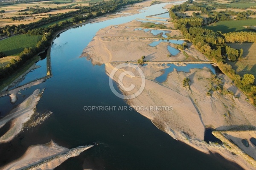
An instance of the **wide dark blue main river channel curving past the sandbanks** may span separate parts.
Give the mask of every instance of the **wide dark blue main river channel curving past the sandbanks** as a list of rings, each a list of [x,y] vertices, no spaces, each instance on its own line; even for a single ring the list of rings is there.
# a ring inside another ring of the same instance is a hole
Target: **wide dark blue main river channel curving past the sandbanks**
[[[151,6],[145,14],[137,15],[161,13],[163,6]],[[219,156],[201,153],[172,139],[136,111],[83,110],[84,106],[128,107],[109,88],[105,65],[92,65],[79,56],[99,28],[136,17],[79,26],[61,33],[54,40],[51,47],[53,77],[22,92],[27,97],[37,88],[46,88],[37,111],[53,113],[41,125],[24,130],[11,142],[0,144],[0,166],[18,159],[31,145],[53,140],[67,148],[100,143],[80,156],[68,159],[56,170],[82,170],[83,164],[84,168],[95,170],[240,169]],[[8,96],[0,99],[0,102],[9,101]],[[21,101],[20,98],[17,102]],[[4,107],[2,103],[0,106]]]

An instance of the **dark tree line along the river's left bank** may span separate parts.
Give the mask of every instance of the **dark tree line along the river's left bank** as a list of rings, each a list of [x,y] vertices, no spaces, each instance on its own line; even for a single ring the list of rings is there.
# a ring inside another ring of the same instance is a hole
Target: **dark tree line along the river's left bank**
[[[112,0],[113,1],[113,0]],[[93,16],[91,12],[96,12],[96,15],[102,15],[105,14],[106,10],[117,10],[121,6],[124,6],[126,4],[131,3],[137,3],[143,0],[118,0],[115,2],[116,5],[110,6],[108,8],[104,8],[106,6],[106,3],[111,3],[111,1],[107,1],[99,3],[94,6],[85,6],[77,11],[69,11],[67,13],[60,13],[51,17],[44,17],[41,20],[38,20],[34,23],[29,24],[20,24],[18,26],[4,26],[0,28],[0,35],[5,35],[10,33],[19,34],[19,33],[25,33],[25,34],[31,34],[31,35],[42,35],[41,40],[36,44],[34,48],[24,48],[24,50],[20,53],[19,57],[16,59],[11,59],[10,63],[7,64],[5,67],[0,67],[0,79],[6,78],[9,75],[13,74],[18,68],[20,68],[26,61],[34,57],[36,54],[38,54],[40,51],[43,51],[47,46],[49,46],[50,41],[52,40],[53,36],[57,31],[62,30],[63,28],[66,28],[68,26],[75,25],[76,23],[82,23],[85,22],[85,20],[88,20]],[[102,8],[103,7],[103,8]],[[102,9],[104,12],[102,12]],[[84,12],[89,12],[86,17],[83,17],[82,14]],[[52,26],[48,26],[45,28],[38,28],[39,26],[45,25],[47,23],[51,23],[54,21],[58,21],[67,17],[73,17],[71,21],[65,20],[62,21],[60,24],[53,24]],[[2,53],[1,53],[2,54]]]

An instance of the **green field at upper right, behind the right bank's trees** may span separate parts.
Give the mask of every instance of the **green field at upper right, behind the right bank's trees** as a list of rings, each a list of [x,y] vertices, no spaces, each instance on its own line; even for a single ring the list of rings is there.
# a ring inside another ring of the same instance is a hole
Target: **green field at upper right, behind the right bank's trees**
[[[244,26],[256,26],[256,20],[232,20],[232,21],[219,21],[217,23],[210,24],[204,28],[211,29],[213,31],[222,31],[223,33],[233,31],[250,31]]]

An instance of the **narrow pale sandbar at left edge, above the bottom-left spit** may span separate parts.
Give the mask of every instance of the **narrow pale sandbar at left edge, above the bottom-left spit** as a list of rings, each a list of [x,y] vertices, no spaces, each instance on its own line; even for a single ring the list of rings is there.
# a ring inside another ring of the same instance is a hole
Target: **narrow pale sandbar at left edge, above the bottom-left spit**
[[[12,121],[10,129],[0,137],[0,143],[11,141],[21,130],[23,130],[23,124],[31,118],[34,113],[34,108],[40,99],[39,92],[39,89],[35,90],[31,96],[0,120],[0,128],[7,122]]]

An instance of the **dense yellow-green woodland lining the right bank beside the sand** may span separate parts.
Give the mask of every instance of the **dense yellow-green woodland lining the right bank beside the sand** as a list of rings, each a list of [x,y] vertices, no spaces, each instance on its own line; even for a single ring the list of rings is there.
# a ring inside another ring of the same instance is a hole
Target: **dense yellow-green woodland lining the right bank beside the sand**
[[[188,0],[183,5],[175,5],[170,9],[169,14],[175,23],[175,28],[179,29],[183,36],[195,45],[195,47],[205,54],[208,59],[216,62],[221,71],[229,76],[238,88],[240,88],[256,104],[256,86],[254,76],[245,74],[240,77],[236,74],[231,65],[226,63],[226,58],[236,61],[242,57],[242,49],[234,49],[228,46],[227,42],[256,42],[256,32],[230,32],[222,34],[221,31],[212,31],[201,28],[203,20],[197,17],[178,17],[175,11],[188,10],[187,6],[191,2]]]

